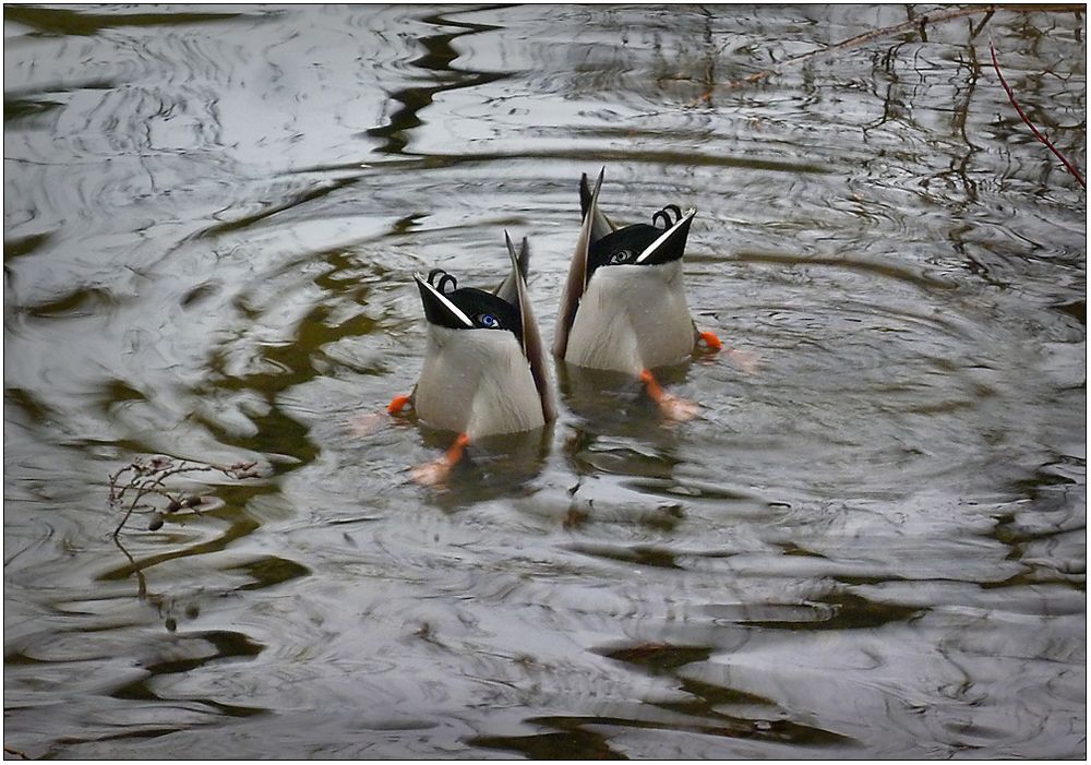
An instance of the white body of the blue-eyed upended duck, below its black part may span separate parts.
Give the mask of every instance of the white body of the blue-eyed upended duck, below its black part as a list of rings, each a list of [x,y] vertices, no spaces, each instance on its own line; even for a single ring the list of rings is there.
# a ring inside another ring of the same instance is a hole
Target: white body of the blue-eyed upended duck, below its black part
[[[511,332],[428,325],[428,346],[413,407],[423,425],[484,435],[546,425],[541,395]]]

